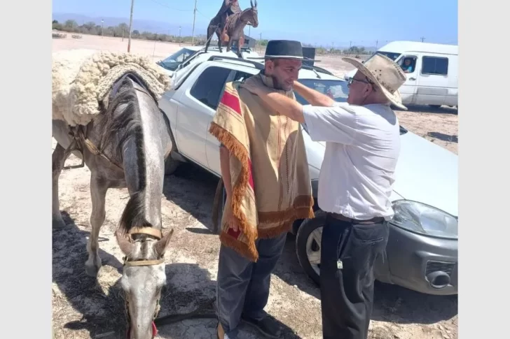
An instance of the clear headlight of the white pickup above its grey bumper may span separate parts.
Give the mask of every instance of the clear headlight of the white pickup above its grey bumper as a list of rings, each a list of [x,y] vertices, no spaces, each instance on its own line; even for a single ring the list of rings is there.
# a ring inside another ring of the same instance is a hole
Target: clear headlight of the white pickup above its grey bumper
[[[391,221],[402,229],[426,236],[458,238],[458,220],[442,210],[415,201],[399,200],[393,203],[395,212]]]

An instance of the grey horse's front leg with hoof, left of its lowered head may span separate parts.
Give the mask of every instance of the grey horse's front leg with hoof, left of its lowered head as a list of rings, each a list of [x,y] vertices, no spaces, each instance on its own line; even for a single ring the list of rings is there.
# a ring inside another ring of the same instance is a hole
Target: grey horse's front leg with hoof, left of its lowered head
[[[99,229],[106,217],[106,210],[104,209],[106,191],[108,185],[106,181],[92,172],[90,175],[90,196],[92,198],[92,214],[90,215],[90,238],[88,240],[87,252],[88,260],[85,262],[85,273],[91,277],[97,276],[99,268],[101,268],[101,258],[99,258]]]

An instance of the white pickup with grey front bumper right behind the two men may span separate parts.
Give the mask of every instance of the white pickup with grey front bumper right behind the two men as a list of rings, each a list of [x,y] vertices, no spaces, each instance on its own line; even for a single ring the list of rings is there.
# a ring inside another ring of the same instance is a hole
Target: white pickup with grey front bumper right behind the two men
[[[220,177],[219,142],[208,130],[223,87],[262,68],[261,62],[212,55],[172,76],[177,79],[172,81],[174,87],[159,101],[170,120],[174,141],[167,174],[174,173],[183,161],[191,161]],[[322,68],[303,66],[298,81],[336,101],[347,99],[347,82]],[[298,94],[296,99],[307,103]],[[305,130],[303,137],[317,201],[325,144],[311,140]],[[391,197],[396,215],[389,222],[390,240],[378,259],[375,277],[423,293],[457,294],[457,155],[401,127],[396,175]],[[317,205],[315,210],[316,217],[298,220],[292,233],[303,270],[318,283],[324,213]]]

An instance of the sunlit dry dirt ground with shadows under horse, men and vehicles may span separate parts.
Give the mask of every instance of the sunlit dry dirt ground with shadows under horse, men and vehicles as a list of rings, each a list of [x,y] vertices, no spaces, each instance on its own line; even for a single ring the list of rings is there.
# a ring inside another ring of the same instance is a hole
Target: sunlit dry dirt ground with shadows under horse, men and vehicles
[[[156,46],[156,48],[155,48]],[[94,48],[125,50],[127,39],[83,36],[81,40],[53,40],[53,50]],[[133,41],[132,52],[166,57],[178,44]],[[326,59],[326,58],[323,58]],[[331,71],[348,71],[345,63],[328,59]],[[425,108],[399,112],[401,124],[414,133],[457,152],[457,115],[448,109]],[[55,140],[53,140],[55,147]],[[67,165],[78,164],[72,156]],[[123,294],[118,287],[122,254],[113,232],[127,202],[127,189],[110,189],[106,220],[99,236],[103,267],[97,280],[85,275],[85,249],[90,232],[90,171],[76,168],[60,176],[60,209],[67,226],[53,231],[53,326],[57,339],[125,338]],[[196,166],[186,165],[165,178],[162,219],[174,228],[166,255],[167,287],[160,315],[185,313],[214,298],[219,240],[212,229],[211,210],[216,179]],[[294,237],[273,273],[266,310],[284,326],[284,338],[322,338],[320,294],[298,264]],[[216,321],[186,320],[161,326],[157,339],[216,338]],[[258,338],[250,329],[242,338]],[[457,338],[457,296],[429,296],[401,287],[376,283],[371,339]]]

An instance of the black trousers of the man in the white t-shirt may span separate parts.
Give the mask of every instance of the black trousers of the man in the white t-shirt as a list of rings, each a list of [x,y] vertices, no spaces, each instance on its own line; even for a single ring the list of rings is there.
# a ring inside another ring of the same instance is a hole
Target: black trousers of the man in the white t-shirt
[[[352,224],[328,215],[322,230],[324,339],[366,339],[373,306],[373,265],[386,247],[385,222]]]

